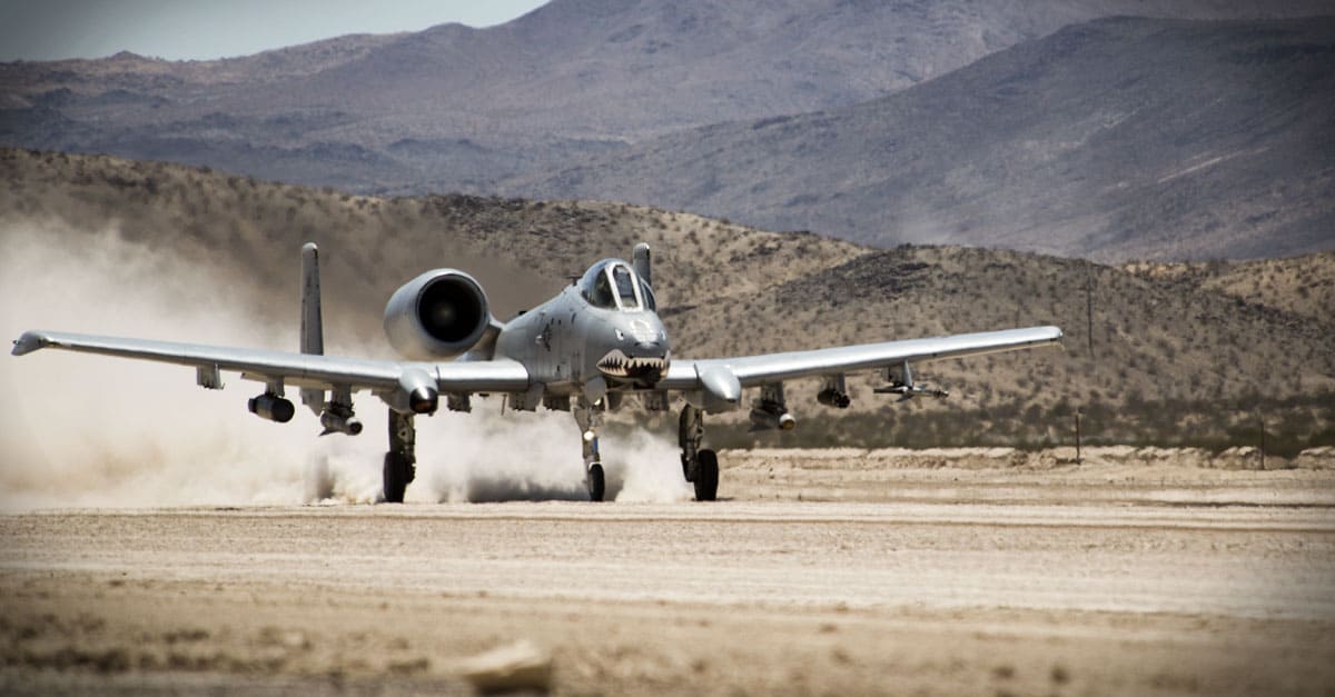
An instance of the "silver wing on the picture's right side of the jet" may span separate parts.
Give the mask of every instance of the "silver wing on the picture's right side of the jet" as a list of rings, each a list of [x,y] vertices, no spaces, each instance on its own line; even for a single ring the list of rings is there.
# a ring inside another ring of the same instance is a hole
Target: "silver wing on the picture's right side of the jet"
[[[725,369],[737,377],[742,387],[754,387],[793,378],[878,370],[905,362],[921,363],[943,358],[1060,346],[1060,342],[1061,330],[1057,327],[1028,327],[740,358],[697,361],[674,358],[668,375],[658,386],[668,390],[698,390],[702,374]]]

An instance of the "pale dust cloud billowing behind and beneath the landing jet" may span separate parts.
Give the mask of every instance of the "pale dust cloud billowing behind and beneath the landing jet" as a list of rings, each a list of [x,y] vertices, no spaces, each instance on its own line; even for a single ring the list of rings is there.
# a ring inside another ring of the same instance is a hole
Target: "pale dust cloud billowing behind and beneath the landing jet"
[[[148,339],[292,350],[296,298],[224,278],[171,250],[56,223],[0,224],[0,335],[51,328]],[[298,271],[294,255],[292,272]],[[258,323],[290,303],[292,323]],[[326,336],[331,353],[374,355]],[[316,437],[299,409],[287,425],[246,411],[259,383],[224,374],[222,391],[190,369],[64,351],[0,358],[0,510],[183,505],[368,503],[380,493],[383,405],[355,397],[366,431]],[[288,390],[290,398],[296,390]],[[676,447],[654,434],[603,439],[609,498],[690,498]],[[579,434],[569,414],[418,418],[418,478],[409,502],[586,498]]]

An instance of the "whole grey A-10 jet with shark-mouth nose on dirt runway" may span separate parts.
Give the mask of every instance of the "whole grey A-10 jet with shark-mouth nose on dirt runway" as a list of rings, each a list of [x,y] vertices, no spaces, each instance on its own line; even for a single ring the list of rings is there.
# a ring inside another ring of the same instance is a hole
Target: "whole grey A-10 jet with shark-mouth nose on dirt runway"
[[[541,405],[574,413],[589,498],[602,501],[598,427],[603,413],[619,409],[626,397],[638,398],[650,411],[666,411],[680,397],[682,474],[694,483],[697,501],[714,501],[718,458],[704,447],[704,415],[740,409],[748,387],[758,389],[750,405],[752,429],[789,430],[797,422],[784,399],[786,381],[820,379],[817,401],[836,409],[849,405],[845,375],[850,373],[882,373],[886,383],[874,391],[901,399],[944,397],[916,383],[910,365],[1061,340],[1057,327],[1029,327],[784,354],[674,358],[657,314],[649,246],[637,246],[631,259],[593,264],[559,295],[505,323],[491,316],[477,279],[453,268],[427,271],[395,291],[384,307],[384,332],[407,361],[323,355],[315,244],[302,248],[300,353],[28,331],[15,342],[13,355],[65,348],[176,363],[194,367],[198,383],[207,389],[222,389],[223,371],[240,373],[264,383],[250,410],[275,422],[292,419],[295,407],[284,391],[296,386],[326,434],[359,434],[352,395],[370,390],[390,411],[383,463],[387,502],[402,502],[415,474],[414,417],[435,414],[442,401],[451,411],[469,411],[471,395],[503,394],[511,410],[533,411]]]

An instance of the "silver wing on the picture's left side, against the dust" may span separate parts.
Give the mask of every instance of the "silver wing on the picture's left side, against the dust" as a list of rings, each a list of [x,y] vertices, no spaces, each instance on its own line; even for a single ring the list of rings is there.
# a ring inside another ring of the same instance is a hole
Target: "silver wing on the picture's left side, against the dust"
[[[434,379],[442,394],[523,391],[529,387],[529,371],[515,361],[414,363],[63,331],[27,331],[13,342],[12,354],[24,355],[40,348],[192,366],[199,371],[199,383],[206,387],[220,387],[216,385],[218,371],[240,373],[242,378],[259,382],[282,381],[283,385],[299,387],[371,390],[380,394],[398,390],[409,374],[413,378],[425,374],[427,379]]]

